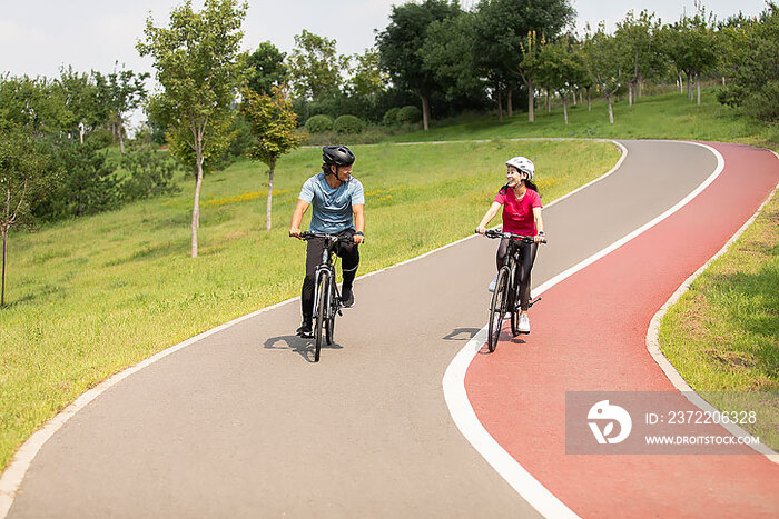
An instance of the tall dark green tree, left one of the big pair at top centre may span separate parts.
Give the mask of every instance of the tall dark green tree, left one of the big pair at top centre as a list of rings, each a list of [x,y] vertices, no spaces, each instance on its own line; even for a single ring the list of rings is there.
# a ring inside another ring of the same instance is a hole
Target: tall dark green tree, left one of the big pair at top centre
[[[382,68],[398,87],[414,92],[422,102],[422,124],[430,129],[430,96],[442,86],[424,66],[420,53],[427,27],[460,12],[456,1],[425,0],[423,3],[393,6],[389,24],[376,34]]]

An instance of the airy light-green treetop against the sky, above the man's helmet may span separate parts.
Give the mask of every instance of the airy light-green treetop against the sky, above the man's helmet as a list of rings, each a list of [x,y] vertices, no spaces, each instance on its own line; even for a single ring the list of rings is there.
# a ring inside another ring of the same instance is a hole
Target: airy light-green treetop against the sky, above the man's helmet
[[[337,54],[335,44],[305,29],[295,36],[289,73],[297,96],[319,100],[341,91],[341,71],[348,69],[348,60]]]

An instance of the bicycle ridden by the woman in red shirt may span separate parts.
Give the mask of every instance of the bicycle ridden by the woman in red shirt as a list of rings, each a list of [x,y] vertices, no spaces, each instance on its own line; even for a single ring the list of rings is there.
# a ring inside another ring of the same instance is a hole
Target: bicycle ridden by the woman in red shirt
[[[533,237],[513,234],[511,232],[501,232],[497,230],[487,230],[484,236],[487,238],[511,238],[509,249],[506,251],[506,262],[501,270],[497,271],[497,280],[495,282],[495,291],[492,293],[492,303],[490,305],[490,321],[487,333],[487,349],[492,353],[497,346],[497,338],[501,335],[501,325],[506,311],[511,309],[511,333],[516,337],[520,335],[520,283],[516,279],[516,254],[517,242],[533,243]],[[546,243],[545,239],[541,240]],[[527,280],[530,282],[530,280]],[[509,287],[512,287],[509,290]],[[529,307],[539,302],[541,298],[531,301]]]

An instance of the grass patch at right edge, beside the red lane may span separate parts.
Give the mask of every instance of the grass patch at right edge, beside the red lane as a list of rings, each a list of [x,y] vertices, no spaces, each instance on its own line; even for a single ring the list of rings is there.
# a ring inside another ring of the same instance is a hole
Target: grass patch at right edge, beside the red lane
[[[712,405],[757,409],[762,420],[747,429],[779,448],[779,197],[669,309],[660,348]],[[734,392],[762,393],[733,402]]]

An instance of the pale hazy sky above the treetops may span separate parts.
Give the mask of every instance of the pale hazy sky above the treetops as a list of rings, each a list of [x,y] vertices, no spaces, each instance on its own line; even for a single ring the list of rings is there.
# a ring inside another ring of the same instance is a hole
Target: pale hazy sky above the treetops
[[[572,0],[576,27],[605,20],[608,27],[633,9],[654,11],[664,22],[682,11],[693,12],[693,0]],[[136,71],[151,70],[150,58],[140,58],[136,43],[147,17],[166,24],[170,9],[180,0],[0,0],[0,73],[59,76],[61,66],[77,71],[110,72],[115,63]],[[335,39],[342,54],[362,53],[373,46],[375,29],[383,30],[393,4],[403,0],[250,0],[244,22],[244,49],[272,41],[290,51],[295,34],[307,29]],[[464,8],[476,0],[461,0]],[[196,8],[203,0],[194,0]],[[708,0],[707,9],[718,19],[739,9],[753,16],[766,8],[763,0]],[[650,9],[651,6],[651,9]]]

